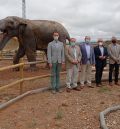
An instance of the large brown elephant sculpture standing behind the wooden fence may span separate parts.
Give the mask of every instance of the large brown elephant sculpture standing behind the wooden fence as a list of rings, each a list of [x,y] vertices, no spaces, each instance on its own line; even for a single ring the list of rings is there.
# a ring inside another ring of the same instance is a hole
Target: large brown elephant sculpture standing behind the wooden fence
[[[19,48],[13,59],[13,63],[19,63],[20,58],[27,56],[29,62],[36,61],[36,50],[47,53],[47,45],[53,40],[53,32],[58,32],[59,40],[63,43],[70,39],[67,30],[58,22],[48,20],[28,20],[16,16],[9,16],[0,20],[0,50],[4,48],[8,40],[17,37]],[[32,69],[35,64],[30,65]]]

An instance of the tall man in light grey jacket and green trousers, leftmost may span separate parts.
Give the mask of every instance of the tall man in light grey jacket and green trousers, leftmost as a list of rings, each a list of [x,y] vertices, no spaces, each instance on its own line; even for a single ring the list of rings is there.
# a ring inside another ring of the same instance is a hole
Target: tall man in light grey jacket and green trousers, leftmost
[[[53,33],[54,40],[48,44],[47,57],[51,69],[52,93],[60,92],[60,70],[65,63],[64,45],[60,42],[59,33]]]

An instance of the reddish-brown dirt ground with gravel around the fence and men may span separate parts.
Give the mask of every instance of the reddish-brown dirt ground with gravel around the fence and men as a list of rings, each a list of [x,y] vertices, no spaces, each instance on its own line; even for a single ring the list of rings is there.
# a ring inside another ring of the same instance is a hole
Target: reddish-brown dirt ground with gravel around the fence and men
[[[2,67],[3,62],[0,62]],[[4,66],[10,62],[4,62]],[[24,72],[25,77],[50,73],[44,65],[39,71]],[[0,85],[8,84],[19,78],[19,72],[0,73]],[[61,76],[65,84],[65,75]],[[50,91],[31,95],[0,111],[0,129],[100,129],[99,113],[120,103],[120,86],[101,88],[85,87],[82,91],[55,95]],[[50,79],[24,83],[24,92],[50,85]],[[95,84],[93,84],[95,86]],[[19,95],[19,87],[9,88],[0,93],[0,104]],[[120,116],[117,116],[120,119]],[[111,128],[112,129],[112,128]],[[117,128],[120,129],[120,126]]]

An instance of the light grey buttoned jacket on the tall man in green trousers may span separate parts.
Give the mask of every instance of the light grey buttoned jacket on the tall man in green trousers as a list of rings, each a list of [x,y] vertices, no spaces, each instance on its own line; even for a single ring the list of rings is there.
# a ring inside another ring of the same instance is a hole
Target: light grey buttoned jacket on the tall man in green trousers
[[[48,44],[47,48],[48,63],[63,63],[65,62],[64,45],[62,42],[53,40]]]

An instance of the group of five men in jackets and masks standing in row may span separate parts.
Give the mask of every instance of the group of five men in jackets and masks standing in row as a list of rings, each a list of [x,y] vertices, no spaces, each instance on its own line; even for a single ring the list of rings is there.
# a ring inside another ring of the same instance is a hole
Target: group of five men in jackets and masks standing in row
[[[59,41],[59,33],[53,33],[53,41],[48,44],[47,57],[51,69],[52,93],[60,90],[61,67],[66,66],[66,91],[80,91],[85,85],[94,88],[92,85],[92,67],[95,66],[96,86],[102,86],[102,74],[109,57],[109,85],[113,86],[112,75],[114,73],[114,83],[119,86],[119,64],[120,45],[117,44],[116,37],[112,37],[110,45],[104,46],[103,39],[98,39],[98,45],[93,47],[90,36],[85,36],[85,42],[76,44],[76,39],[71,38],[65,45]],[[115,69],[115,70],[114,70]],[[80,72],[80,85],[77,84]],[[114,72],[113,72],[114,71]],[[87,83],[86,83],[87,82]]]

